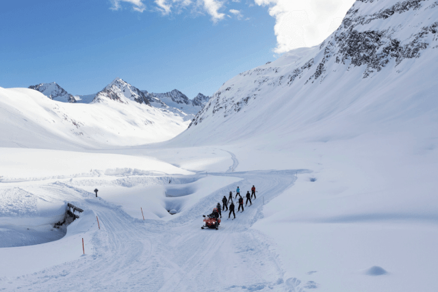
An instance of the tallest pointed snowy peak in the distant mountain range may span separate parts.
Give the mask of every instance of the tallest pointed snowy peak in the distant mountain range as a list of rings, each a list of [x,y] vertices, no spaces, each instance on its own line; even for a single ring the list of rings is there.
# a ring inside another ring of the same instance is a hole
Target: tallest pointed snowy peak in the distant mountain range
[[[101,103],[107,99],[118,101],[119,103],[136,101],[136,103],[151,105],[143,92],[120,78],[114,79],[101,92],[98,92],[92,103]]]

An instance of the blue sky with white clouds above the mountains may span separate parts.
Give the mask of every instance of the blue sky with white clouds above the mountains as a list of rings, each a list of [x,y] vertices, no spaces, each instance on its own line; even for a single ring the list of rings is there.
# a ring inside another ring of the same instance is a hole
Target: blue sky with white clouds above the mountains
[[[231,77],[319,44],[355,0],[14,0],[0,10],[0,86],[211,95]]]

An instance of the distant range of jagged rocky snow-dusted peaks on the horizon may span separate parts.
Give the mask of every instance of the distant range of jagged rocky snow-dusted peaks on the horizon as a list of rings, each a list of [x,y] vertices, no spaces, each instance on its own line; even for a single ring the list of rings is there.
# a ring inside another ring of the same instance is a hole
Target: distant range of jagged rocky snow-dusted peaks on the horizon
[[[199,93],[195,98],[190,99],[179,90],[172,90],[166,93],[150,93],[147,90],[139,90],[120,78],[114,79],[100,92],[88,95],[73,96],[55,82],[31,85],[29,88],[38,90],[50,99],[63,103],[102,103],[108,99],[118,101],[119,103],[134,101],[166,109],[174,114],[183,116],[184,120],[192,120],[210,98],[210,96]]]

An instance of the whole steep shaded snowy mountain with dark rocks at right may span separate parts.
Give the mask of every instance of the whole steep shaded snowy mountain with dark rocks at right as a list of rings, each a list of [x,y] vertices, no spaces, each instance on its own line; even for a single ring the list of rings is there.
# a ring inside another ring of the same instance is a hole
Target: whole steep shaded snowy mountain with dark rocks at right
[[[335,120],[342,120],[341,136],[355,135],[348,125],[359,119],[371,127],[430,111],[424,105],[435,105],[437,11],[435,1],[356,1],[320,46],[290,51],[224,83],[183,136],[206,141],[211,129],[292,135]]]

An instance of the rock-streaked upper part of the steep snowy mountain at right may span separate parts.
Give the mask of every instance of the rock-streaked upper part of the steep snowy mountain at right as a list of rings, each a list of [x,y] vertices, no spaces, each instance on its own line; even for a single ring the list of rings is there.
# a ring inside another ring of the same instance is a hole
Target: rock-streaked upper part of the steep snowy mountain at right
[[[338,72],[346,71],[345,77],[348,71],[361,72],[362,79],[378,78],[383,70],[399,74],[400,64],[438,50],[437,20],[436,0],[357,0],[342,25],[319,47],[296,49],[281,62],[267,63],[227,81],[189,127],[212,116],[238,113],[277,88],[291,88],[291,96],[299,90],[310,92]]]

